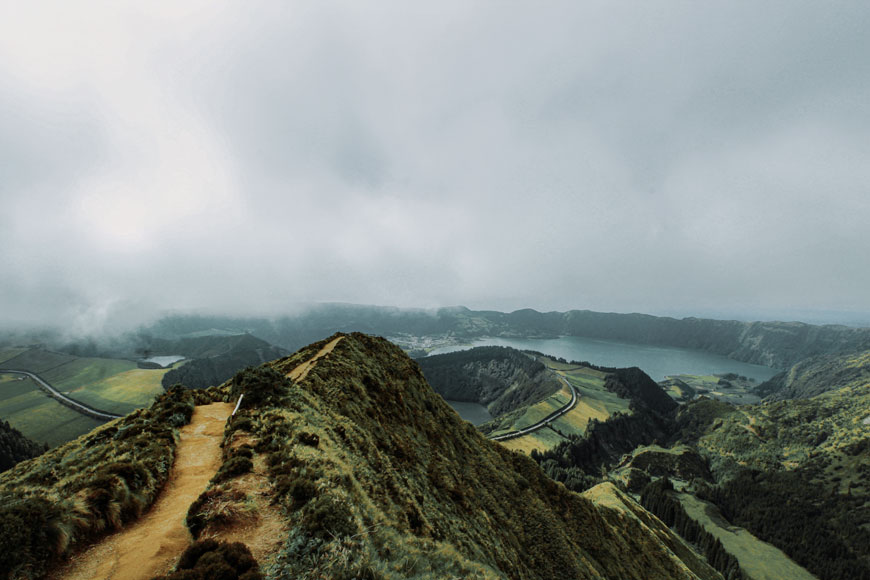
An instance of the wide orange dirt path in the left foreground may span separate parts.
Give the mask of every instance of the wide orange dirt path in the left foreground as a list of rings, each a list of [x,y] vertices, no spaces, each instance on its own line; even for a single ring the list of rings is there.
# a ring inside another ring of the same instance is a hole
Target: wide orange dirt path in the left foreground
[[[147,580],[168,572],[191,537],[184,525],[190,504],[221,465],[220,443],[231,403],[198,406],[181,429],[169,481],[152,509],[54,575],[57,580]]]

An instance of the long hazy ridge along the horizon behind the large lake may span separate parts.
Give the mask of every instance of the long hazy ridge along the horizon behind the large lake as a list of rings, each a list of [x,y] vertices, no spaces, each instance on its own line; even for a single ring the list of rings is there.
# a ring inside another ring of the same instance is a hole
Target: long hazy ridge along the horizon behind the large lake
[[[325,334],[350,331],[396,339],[437,336],[448,341],[582,336],[692,348],[774,368],[787,368],[815,355],[870,349],[870,328],[838,325],[675,319],[589,310],[542,313],[526,309],[503,313],[463,307],[413,310],[350,304],[319,304],[274,319],[177,315],[160,320],[145,332],[178,338],[208,329],[250,332],[290,350]]]

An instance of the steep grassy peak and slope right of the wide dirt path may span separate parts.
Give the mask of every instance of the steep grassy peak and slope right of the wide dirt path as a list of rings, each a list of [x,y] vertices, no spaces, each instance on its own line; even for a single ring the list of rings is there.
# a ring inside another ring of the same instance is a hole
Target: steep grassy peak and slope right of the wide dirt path
[[[323,344],[274,366],[287,373]],[[276,575],[692,577],[657,520],[626,519],[487,441],[382,339],[346,337],[280,406],[234,425],[283,490],[291,529]]]

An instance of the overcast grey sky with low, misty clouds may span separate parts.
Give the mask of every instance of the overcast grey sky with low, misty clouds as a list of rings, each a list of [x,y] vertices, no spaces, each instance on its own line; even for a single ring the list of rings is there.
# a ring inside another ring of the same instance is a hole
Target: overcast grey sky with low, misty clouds
[[[0,321],[870,311],[870,3],[4,2]]]

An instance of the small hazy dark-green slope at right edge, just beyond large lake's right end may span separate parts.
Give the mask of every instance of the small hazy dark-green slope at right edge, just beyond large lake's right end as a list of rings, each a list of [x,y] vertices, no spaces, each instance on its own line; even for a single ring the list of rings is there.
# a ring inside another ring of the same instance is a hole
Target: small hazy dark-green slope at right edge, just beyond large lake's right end
[[[806,399],[847,385],[870,384],[870,350],[802,360],[758,386],[771,401]]]

